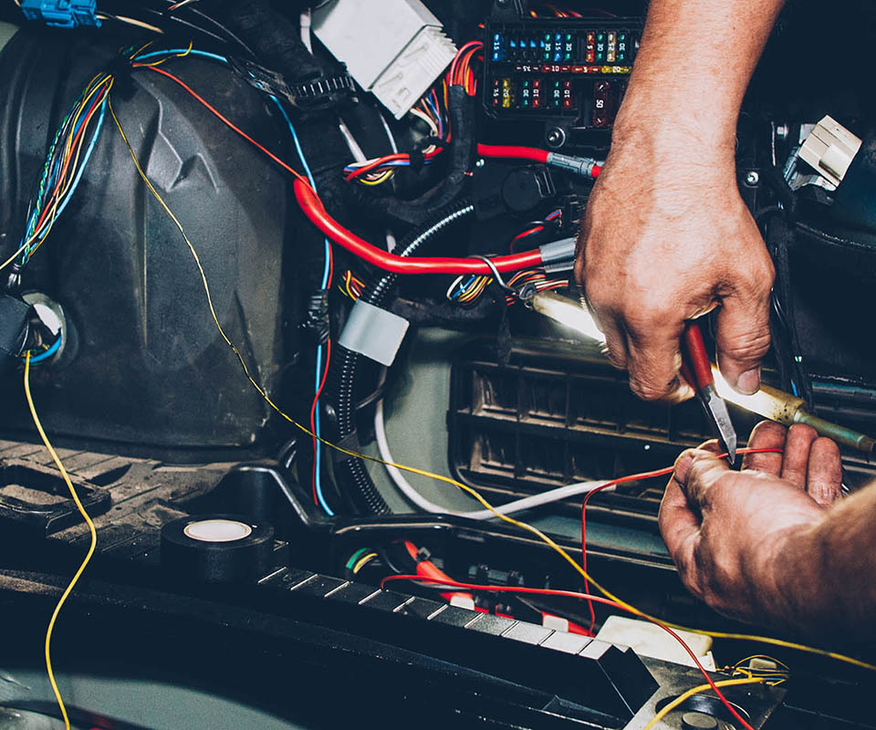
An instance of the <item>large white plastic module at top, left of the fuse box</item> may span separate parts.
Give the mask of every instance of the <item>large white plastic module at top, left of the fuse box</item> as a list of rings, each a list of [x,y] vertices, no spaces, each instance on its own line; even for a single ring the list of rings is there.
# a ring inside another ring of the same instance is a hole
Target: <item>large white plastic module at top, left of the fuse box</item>
[[[314,10],[313,32],[399,120],[456,54],[420,0],[334,0]]]

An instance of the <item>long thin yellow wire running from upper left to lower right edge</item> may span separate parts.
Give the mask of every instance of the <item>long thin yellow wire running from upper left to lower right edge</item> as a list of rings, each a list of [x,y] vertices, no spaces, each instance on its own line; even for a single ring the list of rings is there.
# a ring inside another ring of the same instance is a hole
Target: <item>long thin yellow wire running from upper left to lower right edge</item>
[[[287,422],[291,423],[293,426],[295,426],[300,431],[307,433],[309,437],[317,439],[319,443],[324,444],[328,448],[333,449],[334,451],[337,451],[340,454],[346,454],[347,456],[352,456],[352,457],[357,458],[357,459],[365,459],[365,460],[373,462],[375,464],[383,464],[384,466],[394,466],[396,469],[399,469],[402,472],[408,472],[409,474],[420,474],[421,476],[426,476],[426,477],[429,477],[430,479],[435,479],[439,482],[443,482],[444,484],[453,485],[453,486],[457,487],[458,489],[462,489],[466,494],[473,496],[474,499],[477,500],[477,502],[479,502],[482,506],[485,507],[485,509],[488,509],[490,512],[495,514],[495,516],[497,516],[503,522],[506,522],[509,525],[514,525],[515,527],[519,527],[520,529],[526,530],[527,532],[531,533],[532,535],[535,535],[536,537],[538,537],[538,539],[540,539],[542,542],[544,542],[548,547],[550,547],[555,552],[557,552],[561,558],[566,560],[566,562],[568,562],[568,564],[574,570],[576,570],[583,579],[585,579],[589,583],[591,583],[606,598],[613,600],[615,603],[617,603],[624,610],[628,610],[631,613],[633,613],[637,616],[640,616],[643,619],[655,621],[658,623],[663,623],[667,626],[673,627],[674,629],[680,629],[682,631],[691,631],[693,633],[702,634],[704,636],[711,636],[711,637],[718,638],[718,639],[737,639],[737,640],[741,640],[741,641],[760,641],[762,643],[772,644],[774,646],[781,646],[781,647],[784,647],[786,649],[795,649],[795,650],[800,651],[800,652],[809,652],[809,653],[813,653],[813,654],[818,654],[820,656],[829,657],[830,659],[835,659],[839,662],[847,662],[847,663],[853,664],[855,666],[862,667],[864,669],[869,669],[872,672],[876,672],[876,665],[869,664],[867,662],[861,662],[859,659],[855,659],[853,657],[846,656],[845,654],[840,654],[840,653],[836,653],[836,652],[828,652],[828,651],[823,650],[823,649],[817,649],[815,647],[806,646],[805,644],[799,644],[799,643],[796,643],[794,641],[784,641],[782,639],[772,639],[768,636],[757,636],[755,634],[725,633],[723,631],[703,631],[700,629],[691,629],[691,628],[688,628],[685,626],[681,626],[679,624],[669,623],[667,621],[662,621],[662,620],[656,619],[653,616],[645,613],[644,611],[637,609],[635,606],[632,606],[630,603],[627,603],[626,601],[621,600],[620,598],[615,596],[613,593],[611,593],[608,589],[603,588],[599,582],[594,580],[589,575],[589,573],[578,564],[578,562],[575,560],[575,558],[572,558],[568,554],[568,552],[566,552],[566,550],[563,549],[563,547],[560,547],[553,539],[551,539],[550,537],[547,537],[547,535],[545,535],[545,533],[543,533],[537,527],[533,527],[532,525],[529,525],[526,522],[521,522],[520,520],[517,520],[514,517],[503,515],[501,512],[499,512],[495,508],[495,506],[492,506],[489,502],[487,502],[485,500],[485,498],[483,496],[481,496],[477,491],[475,491],[472,487],[470,487],[468,485],[464,485],[462,482],[458,482],[449,476],[443,476],[443,474],[433,474],[433,472],[428,472],[428,471],[425,471],[424,469],[417,469],[416,467],[406,466],[404,464],[396,464],[394,462],[385,461],[381,458],[378,458],[377,456],[370,456],[369,454],[360,454],[358,452],[350,451],[349,449],[345,449],[342,446],[339,446],[337,443],[331,443],[330,441],[327,441],[326,439],[322,438],[321,436],[318,436],[316,433],[313,433],[312,431],[310,431],[306,426],[297,422],[294,418],[292,418],[290,415],[288,415],[286,412],[284,412],[282,409],[280,409],[279,406],[277,406],[276,403],[271,400],[271,397],[267,394],[265,389],[262,388],[262,386],[259,385],[259,383],[255,381],[253,376],[250,374],[249,368],[247,367],[246,362],[243,358],[243,355],[241,355],[241,353],[240,353],[240,350],[237,349],[235,344],[231,341],[231,339],[228,339],[228,336],[225,334],[225,330],[222,327],[222,324],[220,323],[218,316],[216,315],[216,310],[215,310],[214,305],[213,305],[213,297],[210,293],[210,287],[207,284],[207,277],[203,272],[203,266],[201,265],[201,258],[198,256],[198,253],[195,250],[192,242],[189,240],[189,237],[185,234],[185,231],[183,231],[183,225],[180,223],[179,219],[176,217],[176,215],[173,214],[172,210],[168,207],[167,203],[164,202],[162,196],[152,186],[152,183],[150,182],[146,173],[143,172],[141,164],[137,159],[137,155],[134,153],[133,148],[131,148],[130,142],[128,141],[128,137],[125,135],[125,130],[122,129],[120,121],[116,117],[115,111],[112,109],[112,102],[111,101],[110,101],[109,106],[110,106],[110,114],[112,115],[112,120],[116,123],[116,127],[119,128],[121,138],[122,138],[122,140],[125,141],[125,144],[128,147],[130,157],[134,161],[134,166],[137,168],[137,172],[140,173],[140,176],[141,176],[143,182],[146,183],[146,186],[149,188],[152,195],[161,204],[162,208],[164,209],[164,212],[167,213],[171,217],[171,220],[173,221],[173,223],[176,224],[176,227],[179,229],[180,234],[183,236],[183,241],[185,241],[185,244],[188,246],[189,251],[191,252],[191,254],[194,258],[194,263],[198,267],[198,271],[201,275],[201,281],[203,284],[204,294],[206,295],[206,298],[207,298],[207,305],[210,308],[210,314],[213,317],[213,321],[214,321],[214,324],[216,325],[216,328],[219,330],[219,334],[222,336],[222,339],[224,339],[225,344],[229,348],[231,348],[232,351],[237,356],[237,360],[240,361],[240,365],[244,370],[244,374],[246,376],[246,379],[255,388],[255,390],[258,391],[259,395],[262,396],[262,398],[266,401],[266,403],[277,413],[277,415],[286,419]]]

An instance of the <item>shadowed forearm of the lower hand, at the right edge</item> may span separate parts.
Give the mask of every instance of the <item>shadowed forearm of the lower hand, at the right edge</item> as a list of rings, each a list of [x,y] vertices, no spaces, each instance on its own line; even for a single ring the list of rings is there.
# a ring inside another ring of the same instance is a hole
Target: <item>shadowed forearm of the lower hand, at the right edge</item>
[[[876,649],[876,485],[789,537],[773,561],[773,622]]]

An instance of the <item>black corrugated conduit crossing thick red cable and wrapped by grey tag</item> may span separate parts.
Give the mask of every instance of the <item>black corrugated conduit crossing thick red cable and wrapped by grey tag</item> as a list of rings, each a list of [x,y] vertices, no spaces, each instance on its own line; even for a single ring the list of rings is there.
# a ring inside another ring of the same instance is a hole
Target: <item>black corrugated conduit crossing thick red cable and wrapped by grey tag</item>
[[[464,221],[473,213],[474,205],[468,201],[461,201],[446,207],[433,218],[432,223],[406,235],[401,240],[400,255],[413,255],[422,245],[433,241],[435,237],[453,228],[454,225]],[[374,287],[362,295],[362,300],[375,307],[381,306],[397,276],[396,274],[383,276]],[[335,412],[340,443],[356,433],[354,391],[356,390],[356,373],[360,357],[357,352],[337,346],[329,366],[327,403]],[[352,446],[355,450],[359,444],[353,443]],[[349,495],[353,504],[365,514],[390,514],[390,507],[381,497],[361,459],[346,458],[345,461],[336,465],[334,474],[341,490]]]

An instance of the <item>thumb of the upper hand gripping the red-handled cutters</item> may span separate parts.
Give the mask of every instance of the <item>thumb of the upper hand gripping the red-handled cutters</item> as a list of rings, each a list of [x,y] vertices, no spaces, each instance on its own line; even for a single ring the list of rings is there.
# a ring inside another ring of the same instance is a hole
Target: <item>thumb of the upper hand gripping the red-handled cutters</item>
[[[723,298],[718,311],[718,368],[732,388],[746,395],[760,388],[760,361],[769,349],[769,292],[772,276],[746,293]]]

